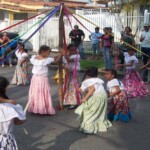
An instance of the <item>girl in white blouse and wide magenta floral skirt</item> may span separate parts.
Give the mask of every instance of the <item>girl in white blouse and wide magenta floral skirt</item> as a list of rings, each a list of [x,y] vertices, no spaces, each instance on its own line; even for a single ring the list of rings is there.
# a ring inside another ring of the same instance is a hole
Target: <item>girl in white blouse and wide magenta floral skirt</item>
[[[128,49],[128,52],[124,53],[125,64],[119,65],[121,67],[126,67],[126,74],[123,79],[123,84],[125,86],[125,91],[130,98],[149,95],[147,86],[144,84],[139,73],[136,71],[136,64],[138,63],[138,59],[134,54],[134,49]]]

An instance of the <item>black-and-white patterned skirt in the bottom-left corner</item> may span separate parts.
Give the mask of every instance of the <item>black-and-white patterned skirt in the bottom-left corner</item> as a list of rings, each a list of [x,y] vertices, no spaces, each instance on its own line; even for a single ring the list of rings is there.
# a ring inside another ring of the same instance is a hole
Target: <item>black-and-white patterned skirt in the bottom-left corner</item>
[[[16,140],[12,134],[0,134],[0,150],[18,150]]]

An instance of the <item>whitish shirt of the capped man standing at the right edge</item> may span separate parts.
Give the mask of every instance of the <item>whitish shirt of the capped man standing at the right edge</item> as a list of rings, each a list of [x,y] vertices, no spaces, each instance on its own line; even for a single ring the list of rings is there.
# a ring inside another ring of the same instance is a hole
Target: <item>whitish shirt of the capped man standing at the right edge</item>
[[[141,47],[150,48],[150,30],[148,32],[143,31],[141,37],[144,38],[144,40],[141,42]]]

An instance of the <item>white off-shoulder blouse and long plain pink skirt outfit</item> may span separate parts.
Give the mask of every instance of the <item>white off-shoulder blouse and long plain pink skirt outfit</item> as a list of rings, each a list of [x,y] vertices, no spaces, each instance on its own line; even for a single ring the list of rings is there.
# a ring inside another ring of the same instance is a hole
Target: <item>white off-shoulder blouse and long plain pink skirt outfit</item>
[[[30,61],[33,64],[33,76],[29,89],[28,111],[35,114],[54,115],[55,110],[52,104],[51,87],[48,79],[48,65],[54,61],[54,58],[38,60],[34,55]]]

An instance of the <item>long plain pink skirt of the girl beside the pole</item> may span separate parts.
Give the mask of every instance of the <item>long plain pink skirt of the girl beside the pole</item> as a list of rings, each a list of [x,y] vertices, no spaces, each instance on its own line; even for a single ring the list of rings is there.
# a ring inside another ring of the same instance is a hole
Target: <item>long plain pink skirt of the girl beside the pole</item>
[[[29,89],[28,111],[35,114],[55,114],[48,77],[33,75]]]

